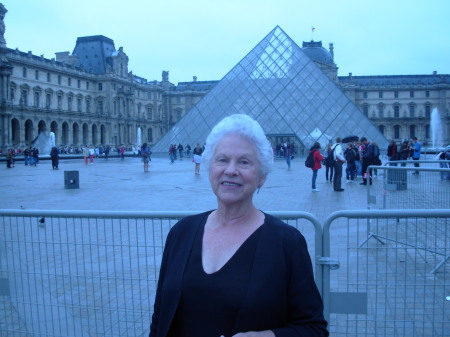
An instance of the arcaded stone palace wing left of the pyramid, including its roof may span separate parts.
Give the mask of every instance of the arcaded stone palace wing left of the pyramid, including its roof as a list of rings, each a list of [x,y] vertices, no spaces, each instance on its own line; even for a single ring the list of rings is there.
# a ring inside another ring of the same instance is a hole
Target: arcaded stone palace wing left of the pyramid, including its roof
[[[1,149],[50,132],[58,146],[131,147],[138,129],[153,144],[204,94],[195,83],[177,91],[168,72],[162,81],[132,74],[123,48],[104,36],[78,38],[72,55],[54,59],[0,47]]]

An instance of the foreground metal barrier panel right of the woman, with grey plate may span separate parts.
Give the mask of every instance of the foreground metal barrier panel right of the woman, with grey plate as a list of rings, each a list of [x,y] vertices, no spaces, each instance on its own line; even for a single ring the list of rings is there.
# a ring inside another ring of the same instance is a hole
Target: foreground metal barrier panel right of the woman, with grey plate
[[[450,336],[450,210],[340,211],[323,235],[331,336]]]

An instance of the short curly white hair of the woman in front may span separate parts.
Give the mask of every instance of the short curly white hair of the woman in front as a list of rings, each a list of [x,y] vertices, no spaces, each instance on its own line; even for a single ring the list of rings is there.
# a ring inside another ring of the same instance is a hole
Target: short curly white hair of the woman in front
[[[256,147],[260,171],[262,175],[267,175],[273,164],[273,149],[264,131],[257,121],[244,114],[234,114],[222,119],[210,132],[206,138],[203,161],[206,166],[211,167],[212,157],[216,150],[217,143],[226,135],[237,134],[245,137]]]

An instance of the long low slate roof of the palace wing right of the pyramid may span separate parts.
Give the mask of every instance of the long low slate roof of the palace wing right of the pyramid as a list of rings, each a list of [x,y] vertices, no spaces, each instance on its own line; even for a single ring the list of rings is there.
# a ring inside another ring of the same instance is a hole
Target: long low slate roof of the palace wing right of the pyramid
[[[420,86],[450,84],[450,75],[380,75],[380,76],[339,76],[341,84],[360,87],[372,86]]]

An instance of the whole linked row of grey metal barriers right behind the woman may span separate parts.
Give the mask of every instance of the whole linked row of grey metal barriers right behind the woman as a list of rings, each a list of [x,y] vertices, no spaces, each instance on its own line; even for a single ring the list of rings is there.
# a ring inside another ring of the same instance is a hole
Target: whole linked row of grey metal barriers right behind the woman
[[[194,213],[0,210],[0,335],[147,336],[165,237]],[[331,336],[449,336],[450,210],[341,211],[323,232],[271,214],[308,242]]]

